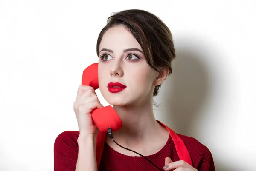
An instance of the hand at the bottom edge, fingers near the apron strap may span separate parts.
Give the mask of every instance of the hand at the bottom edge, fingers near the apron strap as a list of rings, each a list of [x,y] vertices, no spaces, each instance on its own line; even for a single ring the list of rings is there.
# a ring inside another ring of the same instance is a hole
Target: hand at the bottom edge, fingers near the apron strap
[[[183,160],[172,162],[170,157],[166,157],[164,165],[163,169],[165,171],[198,171]]]

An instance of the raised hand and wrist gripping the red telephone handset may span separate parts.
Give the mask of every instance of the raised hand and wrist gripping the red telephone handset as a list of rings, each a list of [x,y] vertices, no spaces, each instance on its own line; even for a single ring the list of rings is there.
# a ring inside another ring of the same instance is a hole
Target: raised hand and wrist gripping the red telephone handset
[[[102,107],[92,87],[85,85],[79,86],[76,101],[73,103],[73,110],[76,114],[81,136],[95,135],[98,132],[96,125],[93,123],[91,112],[95,108]]]

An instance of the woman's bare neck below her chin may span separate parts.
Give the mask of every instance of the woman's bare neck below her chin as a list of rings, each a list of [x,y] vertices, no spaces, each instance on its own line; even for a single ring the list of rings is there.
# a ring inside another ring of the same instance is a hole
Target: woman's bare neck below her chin
[[[165,141],[168,131],[165,131],[154,117],[152,103],[146,105],[115,106],[123,126],[113,132],[113,138],[126,147]]]

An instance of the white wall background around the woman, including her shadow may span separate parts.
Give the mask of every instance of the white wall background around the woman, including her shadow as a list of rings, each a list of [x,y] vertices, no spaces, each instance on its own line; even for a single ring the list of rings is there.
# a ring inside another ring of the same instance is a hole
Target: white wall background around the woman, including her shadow
[[[216,170],[256,171],[255,7],[253,0],[0,0],[0,170],[53,170],[55,138],[78,130],[72,104],[82,71],[98,60],[99,32],[112,12],[135,8],[166,23],[177,51],[154,99],[156,118],[206,145]]]

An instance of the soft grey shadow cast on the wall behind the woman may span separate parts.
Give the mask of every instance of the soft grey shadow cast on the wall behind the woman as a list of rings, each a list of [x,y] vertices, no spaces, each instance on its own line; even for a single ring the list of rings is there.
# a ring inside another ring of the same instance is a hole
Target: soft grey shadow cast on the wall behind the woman
[[[163,112],[162,118],[166,120],[164,123],[178,134],[190,137],[197,137],[195,130],[198,129],[195,128],[195,123],[198,118],[203,117],[204,112],[200,112],[200,110],[204,107],[207,97],[213,93],[213,87],[211,87],[213,80],[209,68],[207,69],[207,65],[203,61],[203,58],[207,57],[202,57],[204,54],[200,53],[200,47],[198,47],[200,44],[197,43],[196,50],[194,46],[195,44],[190,47],[179,46],[176,51],[177,57],[173,61],[171,77],[160,88],[161,98],[157,100],[160,102],[159,108]],[[205,51],[204,47],[202,47],[203,49]],[[211,56],[211,54],[207,55]],[[161,105],[164,107],[162,108]],[[191,128],[195,129],[190,130]],[[217,158],[214,158],[214,162],[218,171],[237,170],[237,168],[231,168],[230,165],[225,165]]]

